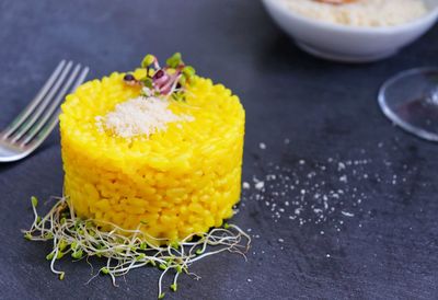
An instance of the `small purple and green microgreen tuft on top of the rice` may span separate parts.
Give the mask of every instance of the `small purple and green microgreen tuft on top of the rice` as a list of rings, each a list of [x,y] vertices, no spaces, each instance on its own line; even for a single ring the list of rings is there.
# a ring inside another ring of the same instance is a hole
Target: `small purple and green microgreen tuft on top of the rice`
[[[180,53],[175,53],[166,59],[164,67],[155,56],[148,54],[141,61],[141,68],[146,69],[143,78],[135,78],[127,73],[124,81],[128,85],[142,86],[146,96],[172,96],[174,100],[184,100],[184,91],[187,84],[193,82],[196,74],[192,66],[186,66]]]

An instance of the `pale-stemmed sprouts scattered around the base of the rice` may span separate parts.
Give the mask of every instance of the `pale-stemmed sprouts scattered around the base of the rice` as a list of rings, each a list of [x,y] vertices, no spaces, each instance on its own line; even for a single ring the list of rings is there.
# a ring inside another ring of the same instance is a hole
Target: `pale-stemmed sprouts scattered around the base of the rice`
[[[66,274],[55,267],[57,259],[69,254],[74,261],[97,256],[106,259],[90,280],[99,274],[108,275],[113,285],[116,277],[129,270],[150,265],[162,270],[158,281],[158,298],[164,297],[163,280],[170,273],[173,275],[170,289],[176,291],[180,274],[187,274],[195,279],[200,277],[188,269],[191,265],[207,256],[221,252],[243,255],[250,249],[251,238],[234,224],[227,228],[214,228],[207,233],[194,233],[181,242],[155,239],[141,231],[140,223],[136,230],[126,230],[108,222],[83,220],[76,216],[74,209],[66,198],[56,198],[54,207],[41,217],[37,214],[37,199],[32,198],[34,222],[30,230],[23,230],[24,238],[31,241],[51,241],[53,250],[46,258],[50,261],[51,272],[62,280]],[[97,224],[99,223],[99,224]],[[110,227],[105,231],[101,226]]]

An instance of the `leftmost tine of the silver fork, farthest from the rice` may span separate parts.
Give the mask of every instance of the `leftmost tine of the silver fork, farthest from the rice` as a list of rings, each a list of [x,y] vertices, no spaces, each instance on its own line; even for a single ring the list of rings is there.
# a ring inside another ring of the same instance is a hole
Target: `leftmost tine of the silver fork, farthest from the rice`
[[[23,122],[32,114],[35,107],[41,103],[44,99],[44,95],[47,93],[49,88],[53,85],[56,78],[61,72],[64,66],[66,65],[66,60],[61,60],[50,77],[47,79],[46,83],[44,83],[43,88],[38,91],[34,100],[15,117],[15,119],[3,130],[3,138],[8,138],[12,132],[14,132]]]

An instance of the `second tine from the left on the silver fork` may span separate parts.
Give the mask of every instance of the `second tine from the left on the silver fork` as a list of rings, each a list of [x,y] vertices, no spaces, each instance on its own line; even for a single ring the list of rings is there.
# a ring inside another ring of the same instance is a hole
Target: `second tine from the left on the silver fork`
[[[16,142],[19,139],[23,137],[25,132],[35,124],[35,122],[42,115],[43,111],[47,107],[47,105],[50,103],[51,99],[56,94],[56,92],[59,90],[60,85],[64,83],[68,72],[71,69],[71,66],[73,65],[72,61],[69,61],[66,66],[66,68],[62,70],[61,74],[59,76],[58,80],[55,82],[54,86],[50,89],[48,94],[44,97],[43,102],[39,104],[38,108],[26,119],[26,122],[18,128],[16,132],[12,136],[11,142]]]

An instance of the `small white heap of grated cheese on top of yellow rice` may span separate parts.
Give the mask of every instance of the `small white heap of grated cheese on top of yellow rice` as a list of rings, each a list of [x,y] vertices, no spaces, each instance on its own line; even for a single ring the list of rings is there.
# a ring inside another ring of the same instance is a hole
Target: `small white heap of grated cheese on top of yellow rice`
[[[175,115],[169,109],[169,101],[154,96],[139,96],[117,104],[106,116],[97,116],[96,126],[123,138],[146,136],[165,131],[169,123],[192,122],[187,115]]]

